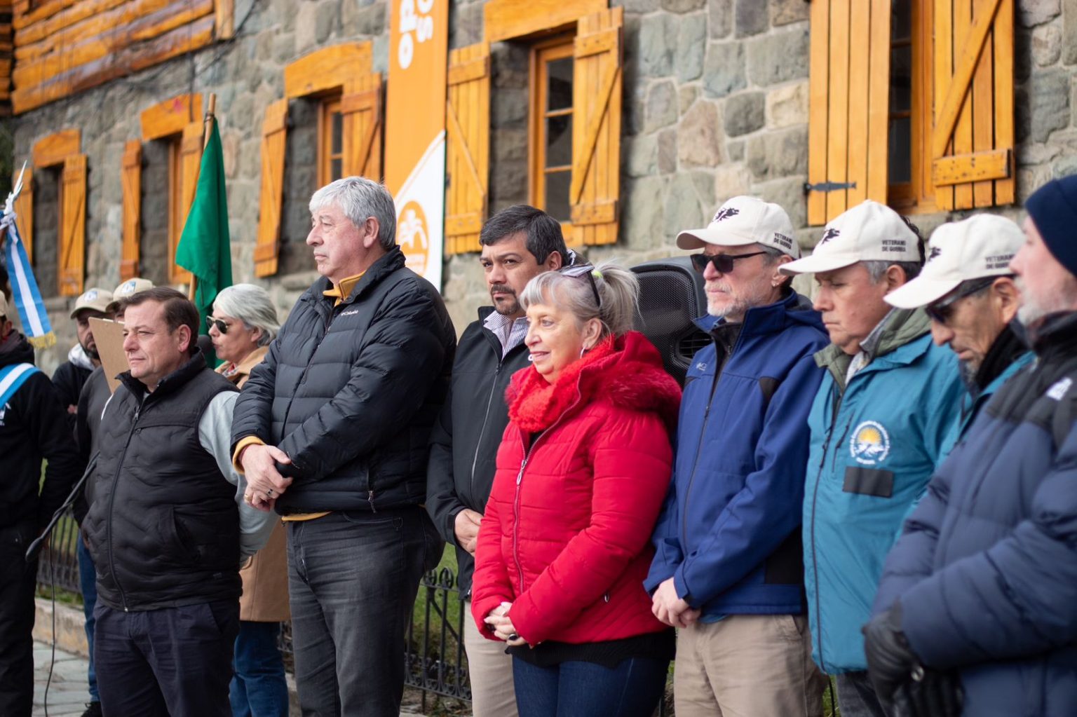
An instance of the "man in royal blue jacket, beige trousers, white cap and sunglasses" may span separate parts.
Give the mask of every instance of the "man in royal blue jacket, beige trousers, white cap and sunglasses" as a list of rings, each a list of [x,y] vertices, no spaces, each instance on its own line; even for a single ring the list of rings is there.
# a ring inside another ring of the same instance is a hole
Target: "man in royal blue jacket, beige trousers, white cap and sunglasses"
[[[673,482],[644,587],[681,628],[676,714],[814,717],[825,679],[809,659],[800,549],[808,410],[827,343],[779,268],[800,255],[778,205],[733,197],[677,235],[707,282],[713,340],[693,359]]]

